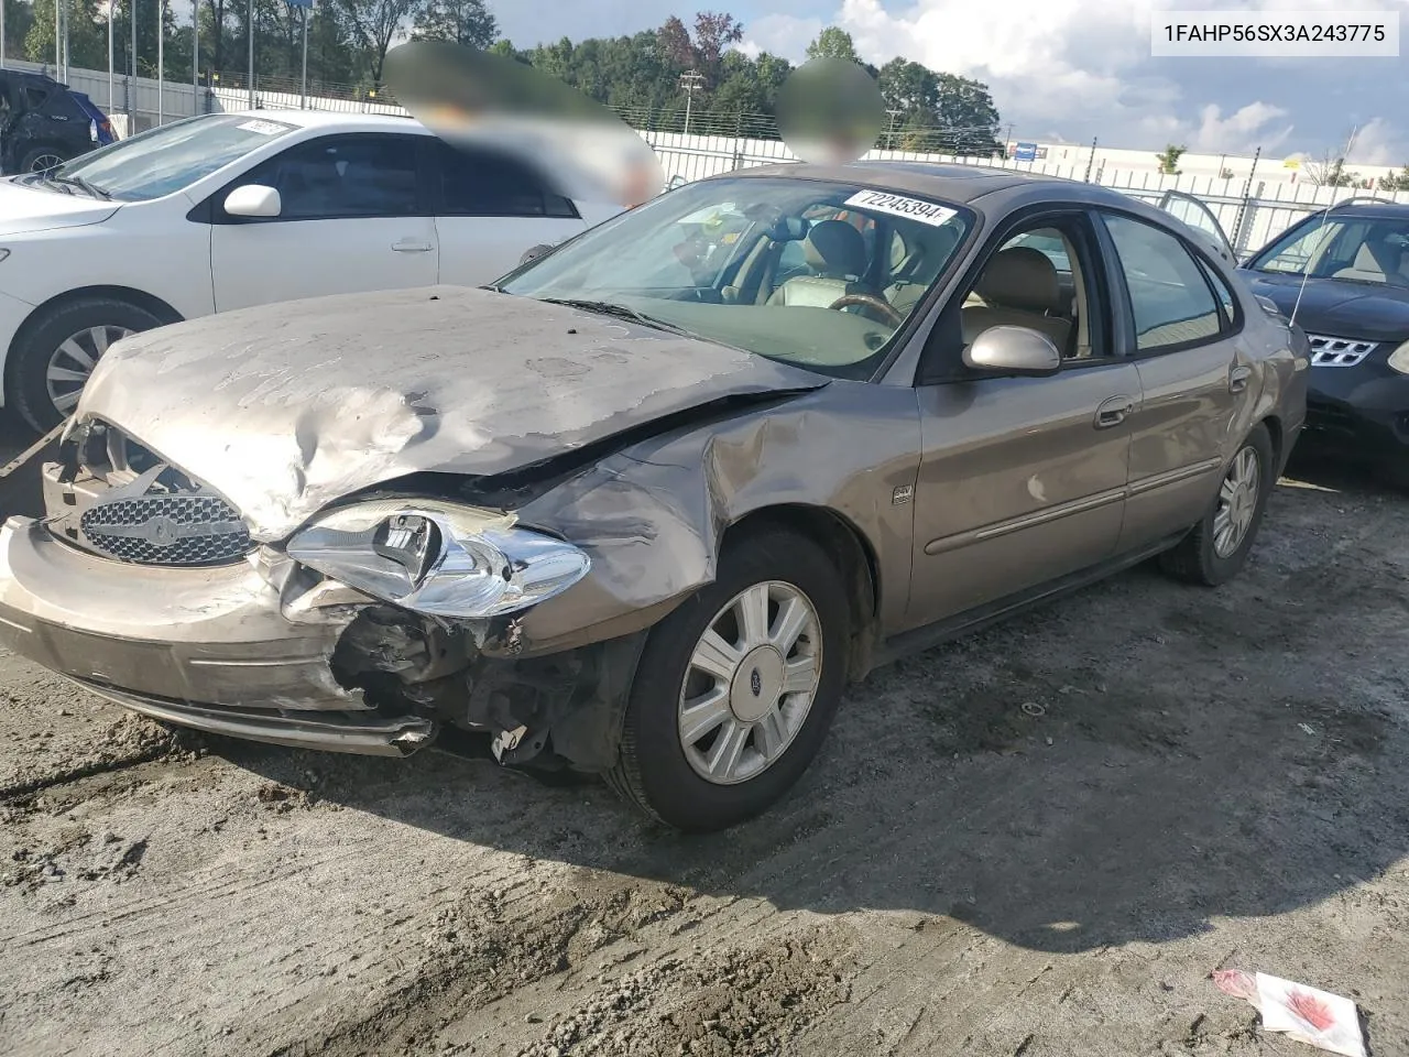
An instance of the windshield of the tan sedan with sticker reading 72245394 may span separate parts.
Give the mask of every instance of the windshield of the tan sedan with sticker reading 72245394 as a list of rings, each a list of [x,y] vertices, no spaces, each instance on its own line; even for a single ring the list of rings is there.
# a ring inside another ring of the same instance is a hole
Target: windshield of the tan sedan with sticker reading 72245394
[[[500,289],[864,379],[971,227],[960,206],[859,183],[710,179],[623,213]]]

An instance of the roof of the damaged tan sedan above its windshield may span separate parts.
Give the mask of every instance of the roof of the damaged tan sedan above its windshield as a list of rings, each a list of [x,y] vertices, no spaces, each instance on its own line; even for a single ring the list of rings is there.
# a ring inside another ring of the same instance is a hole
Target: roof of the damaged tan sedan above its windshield
[[[859,161],[847,165],[782,162],[748,169],[734,169],[728,176],[788,176],[790,179],[845,180],[867,183],[881,190],[930,194],[968,204],[999,192],[1041,192],[1060,187],[1079,202],[1107,203],[1129,209],[1131,199],[1117,190],[1061,176],[1002,169],[992,165],[954,165],[943,162]],[[717,179],[717,178],[716,178]]]

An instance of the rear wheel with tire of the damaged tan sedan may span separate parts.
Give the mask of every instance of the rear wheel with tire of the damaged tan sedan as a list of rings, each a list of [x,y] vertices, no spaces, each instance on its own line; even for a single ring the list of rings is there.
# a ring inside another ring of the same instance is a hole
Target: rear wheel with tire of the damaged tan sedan
[[[1210,588],[1233,579],[1247,564],[1275,485],[1277,452],[1267,427],[1258,423],[1224,469],[1203,517],[1174,550],[1160,557],[1160,567],[1177,579]]]

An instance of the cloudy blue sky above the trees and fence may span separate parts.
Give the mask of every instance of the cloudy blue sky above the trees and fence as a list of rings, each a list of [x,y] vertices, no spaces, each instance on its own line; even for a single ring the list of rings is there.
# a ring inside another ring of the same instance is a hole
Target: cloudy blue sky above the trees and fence
[[[1339,155],[1409,163],[1409,0],[490,0],[520,48],[655,28],[724,10],[741,48],[802,62],[826,25],[861,58],[896,55],[989,86],[1016,140],[1129,149]],[[1158,10],[1381,11],[1401,16],[1401,58],[1151,58]]]

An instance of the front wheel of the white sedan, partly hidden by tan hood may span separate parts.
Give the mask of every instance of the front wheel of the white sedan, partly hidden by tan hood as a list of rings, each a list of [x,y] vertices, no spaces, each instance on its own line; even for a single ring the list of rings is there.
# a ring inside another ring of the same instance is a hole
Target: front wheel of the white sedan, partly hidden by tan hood
[[[25,324],[7,364],[8,396],[41,433],[73,413],[89,375],[108,347],[159,327],[147,309],[113,297],[83,297],[45,310]]]

